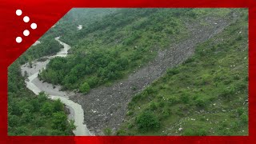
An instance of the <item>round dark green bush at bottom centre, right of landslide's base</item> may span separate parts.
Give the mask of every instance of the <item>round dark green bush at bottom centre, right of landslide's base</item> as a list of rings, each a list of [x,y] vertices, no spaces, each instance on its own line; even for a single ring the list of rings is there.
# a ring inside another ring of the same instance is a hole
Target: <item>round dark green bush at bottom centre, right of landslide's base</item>
[[[143,132],[160,128],[158,118],[151,111],[144,111],[136,119],[138,130]]]

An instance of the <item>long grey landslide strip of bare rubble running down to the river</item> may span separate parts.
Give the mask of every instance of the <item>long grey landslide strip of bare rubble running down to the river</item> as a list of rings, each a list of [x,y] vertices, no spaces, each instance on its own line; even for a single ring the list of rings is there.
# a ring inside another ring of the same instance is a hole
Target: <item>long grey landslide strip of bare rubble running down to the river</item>
[[[100,86],[89,94],[75,94],[70,99],[82,105],[85,123],[91,133],[102,135],[102,130],[118,130],[124,121],[126,107],[134,94],[142,91],[150,83],[161,77],[167,68],[177,66],[194,54],[195,46],[220,33],[238,18],[230,14],[226,18],[202,18],[199,22],[186,22],[190,37],[185,41],[158,51],[157,58],[146,66],[130,74],[128,78],[115,82],[112,86]],[[204,23],[205,25],[200,25]],[[136,86],[136,90],[132,87]]]

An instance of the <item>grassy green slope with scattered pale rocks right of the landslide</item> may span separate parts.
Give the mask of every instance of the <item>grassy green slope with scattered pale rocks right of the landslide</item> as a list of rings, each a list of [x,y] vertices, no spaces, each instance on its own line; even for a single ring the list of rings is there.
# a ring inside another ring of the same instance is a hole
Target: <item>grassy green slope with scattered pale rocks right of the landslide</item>
[[[248,16],[136,94],[118,135],[248,135]]]

